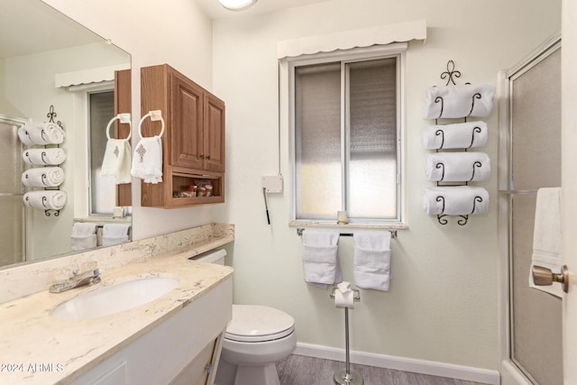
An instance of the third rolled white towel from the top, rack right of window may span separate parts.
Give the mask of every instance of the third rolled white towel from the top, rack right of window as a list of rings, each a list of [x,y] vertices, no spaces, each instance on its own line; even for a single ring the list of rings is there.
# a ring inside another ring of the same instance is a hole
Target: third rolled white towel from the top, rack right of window
[[[435,152],[426,156],[426,178],[432,181],[482,181],[490,177],[490,158],[484,152]]]

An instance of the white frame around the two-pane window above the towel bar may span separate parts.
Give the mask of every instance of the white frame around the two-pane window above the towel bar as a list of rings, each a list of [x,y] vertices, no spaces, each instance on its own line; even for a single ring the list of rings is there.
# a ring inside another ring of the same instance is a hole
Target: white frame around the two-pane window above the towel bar
[[[327,63],[331,61],[340,61],[343,64],[358,62],[364,60],[379,60],[396,58],[397,60],[397,216],[390,219],[363,218],[350,220],[348,226],[352,227],[384,227],[384,228],[404,228],[407,227],[407,193],[406,193],[406,167],[405,167],[405,148],[406,148],[406,105],[405,105],[405,73],[406,73],[406,51],[408,43],[393,43],[381,46],[371,46],[367,48],[355,48],[351,50],[337,50],[334,52],[321,52],[317,54],[301,55],[295,58],[286,58],[287,79],[288,79],[288,114],[289,114],[289,160],[292,174],[292,200],[291,200],[291,222],[289,225],[335,225],[336,221],[322,219],[297,219],[297,180],[296,180],[296,122],[295,122],[295,69],[299,66]],[[344,81],[342,71],[342,84]],[[342,93],[342,103],[345,103]],[[343,115],[344,108],[342,108]],[[341,145],[344,147],[347,142],[344,141],[345,135],[348,134],[348,127],[344,118],[341,119]],[[349,149],[343,149],[349,151]],[[343,157],[346,156],[344,151],[341,152],[341,168],[346,167]],[[343,175],[347,176],[347,171],[343,170]],[[343,195],[348,199],[348,182],[343,183]],[[336,215],[336,213],[335,213]]]

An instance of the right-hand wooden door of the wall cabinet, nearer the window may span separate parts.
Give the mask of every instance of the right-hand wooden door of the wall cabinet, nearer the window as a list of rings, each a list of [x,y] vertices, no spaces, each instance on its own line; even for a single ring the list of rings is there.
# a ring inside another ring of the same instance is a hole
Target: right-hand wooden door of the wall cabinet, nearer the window
[[[204,150],[204,169],[224,172],[224,102],[211,94],[205,94]]]

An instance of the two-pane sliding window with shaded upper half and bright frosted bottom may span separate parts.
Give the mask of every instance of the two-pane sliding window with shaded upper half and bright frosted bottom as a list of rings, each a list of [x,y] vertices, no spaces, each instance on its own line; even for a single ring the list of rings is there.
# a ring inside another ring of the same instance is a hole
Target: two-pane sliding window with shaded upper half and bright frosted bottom
[[[403,53],[289,64],[297,220],[402,222]]]

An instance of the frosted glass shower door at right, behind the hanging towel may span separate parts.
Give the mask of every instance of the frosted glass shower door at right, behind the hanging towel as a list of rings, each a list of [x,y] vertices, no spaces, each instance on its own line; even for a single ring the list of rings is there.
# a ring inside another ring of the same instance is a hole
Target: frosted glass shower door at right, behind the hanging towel
[[[527,380],[562,384],[561,299],[529,288],[536,191],[561,186],[561,41],[508,75],[507,166],[499,199],[507,200],[509,352]],[[501,140],[501,143],[503,141]],[[502,154],[502,152],[501,152]]]

